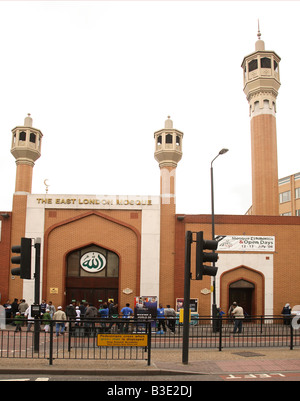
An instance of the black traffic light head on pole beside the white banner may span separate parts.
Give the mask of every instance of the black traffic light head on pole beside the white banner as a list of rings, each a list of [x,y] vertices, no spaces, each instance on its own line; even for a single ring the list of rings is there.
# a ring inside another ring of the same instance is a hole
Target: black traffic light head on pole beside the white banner
[[[203,276],[215,276],[218,268],[216,266],[205,266],[205,262],[216,262],[219,258],[215,252],[204,252],[208,249],[215,251],[218,248],[218,241],[204,240],[203,231],[197,232],[196,239],[196,280],[202,280]]]

